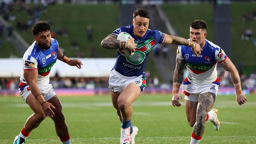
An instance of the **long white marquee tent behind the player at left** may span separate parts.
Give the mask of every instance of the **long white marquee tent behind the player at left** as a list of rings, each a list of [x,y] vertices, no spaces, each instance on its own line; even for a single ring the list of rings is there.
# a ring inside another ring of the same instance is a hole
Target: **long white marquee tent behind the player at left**
[[[116,60],[116,58],[78,59],[83,63],[82,69],[57,60],[52,67],[50,76],[54,77],[58,72],[60,77],[108,77]],[[22,58],[0,59],[0,66],[0,77],[20,77],[22,74]]]

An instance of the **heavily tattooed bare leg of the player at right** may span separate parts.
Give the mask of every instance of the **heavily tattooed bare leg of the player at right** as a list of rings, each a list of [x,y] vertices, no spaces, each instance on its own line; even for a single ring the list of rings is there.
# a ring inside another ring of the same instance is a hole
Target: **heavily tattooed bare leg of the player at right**
[[[202,136],[205,129],[206,114],[213,107],[216,95],[212,92],[204,92],[198,96],[197,122],[193,127],[193,133]]]

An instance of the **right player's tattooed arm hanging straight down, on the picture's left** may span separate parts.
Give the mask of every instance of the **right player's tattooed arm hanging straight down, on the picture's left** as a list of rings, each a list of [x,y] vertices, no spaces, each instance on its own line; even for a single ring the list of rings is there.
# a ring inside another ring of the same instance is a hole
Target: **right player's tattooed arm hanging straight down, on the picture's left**
[[[179,94],[179,89],[183,80],[185,65],[186,64],[184,59],[179,59],[178,57],[176,57],[176,68],[174,70],[174,75],[173,75],[173,98],[172,98],[172,103],[174,107],[181,106],[178,100],[183,102],[182,96]]]

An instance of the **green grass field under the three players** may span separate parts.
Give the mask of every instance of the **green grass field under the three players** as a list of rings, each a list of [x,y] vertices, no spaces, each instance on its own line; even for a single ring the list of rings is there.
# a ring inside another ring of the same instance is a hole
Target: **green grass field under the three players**
[[[221,127],[210,122],[200,144],[256,144],[256,95],[240,106],[235,96],[218,96]],[[60,97],[73,144],[119,144],[119,119],[110,96]],[[182,107],[171,105],[171,95],[141,95],[133,103],[132,124],[139,128],[137,144],[188,144],[189,127]],[[32,110],[19,97],[0,96],[0,143],[11,144]],[[34,129],[26,144],[60,144],[54,123],[46,118]]]

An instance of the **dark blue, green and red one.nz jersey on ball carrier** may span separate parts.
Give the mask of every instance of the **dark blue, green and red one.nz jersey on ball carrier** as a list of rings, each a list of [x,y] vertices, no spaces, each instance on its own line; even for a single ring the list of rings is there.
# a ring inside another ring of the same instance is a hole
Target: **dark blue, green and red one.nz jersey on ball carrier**
[[[112,34],[119,35],[121,32],[129,33],[135,39],[134,42],[137,44],[137,48],[132,57],[124,57],[117,51],[114,68],[123,76],[139,76],[145,70],[149,52],[156,44],[165,42],[165,36],[161,31],[148,29],[144,37],[136,37],[133,25],[118,28]]]

